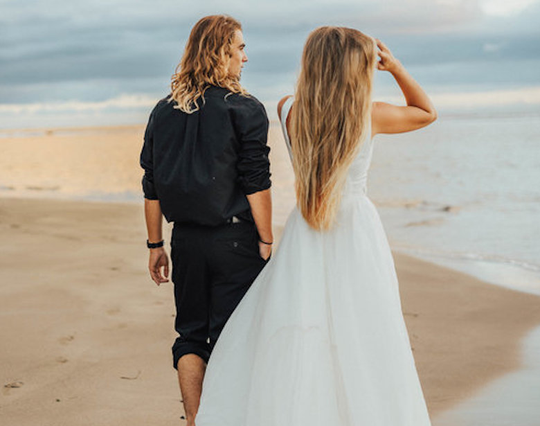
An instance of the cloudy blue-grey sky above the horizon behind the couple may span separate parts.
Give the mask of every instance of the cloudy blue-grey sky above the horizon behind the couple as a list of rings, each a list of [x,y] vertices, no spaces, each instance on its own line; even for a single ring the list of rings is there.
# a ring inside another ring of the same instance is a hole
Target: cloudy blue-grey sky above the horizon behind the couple
[[[270,118],[321,25],[382,39],[443,112],[540,112],[540,0],[0,0],[0,128],[145,123],[219,13],[242,22],[242,84]],[[375,98],[402,102],[388,73]]]

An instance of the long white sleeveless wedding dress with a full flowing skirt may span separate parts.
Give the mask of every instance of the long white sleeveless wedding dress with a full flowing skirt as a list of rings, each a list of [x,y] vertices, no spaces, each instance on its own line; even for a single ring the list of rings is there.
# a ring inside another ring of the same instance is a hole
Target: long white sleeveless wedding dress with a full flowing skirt
[[[213,350],[197,426],[430,425],[390,247],[366,196],[372,148],[368,137],[330,231],[289,215]]]

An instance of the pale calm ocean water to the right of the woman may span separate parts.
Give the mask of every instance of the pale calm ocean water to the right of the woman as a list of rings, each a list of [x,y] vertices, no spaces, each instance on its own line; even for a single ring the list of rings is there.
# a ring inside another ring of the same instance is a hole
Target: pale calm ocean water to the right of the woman
[[[378,135],[368,188],[394,249],[540,294],[540,114]]]

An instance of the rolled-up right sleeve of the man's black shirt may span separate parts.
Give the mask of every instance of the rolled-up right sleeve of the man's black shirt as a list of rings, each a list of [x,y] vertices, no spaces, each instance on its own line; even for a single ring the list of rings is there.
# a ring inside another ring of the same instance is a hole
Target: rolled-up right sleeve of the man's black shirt
[[[237,169],[244,194],[270,188],[268,118],[262,104],[246,100],[237,111],[236,128],[240,139]]]

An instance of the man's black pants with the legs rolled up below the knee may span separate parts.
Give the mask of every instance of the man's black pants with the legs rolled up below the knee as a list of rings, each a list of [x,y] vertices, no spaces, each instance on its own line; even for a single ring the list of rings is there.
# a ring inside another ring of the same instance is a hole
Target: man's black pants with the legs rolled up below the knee
[[[219,227],[175,224],[171,240],[172,282],[179,333],[174,368],[194,353],[208,362],[212,348],[266,261],[259,256],[255,224]]]

